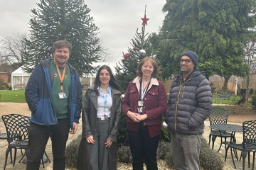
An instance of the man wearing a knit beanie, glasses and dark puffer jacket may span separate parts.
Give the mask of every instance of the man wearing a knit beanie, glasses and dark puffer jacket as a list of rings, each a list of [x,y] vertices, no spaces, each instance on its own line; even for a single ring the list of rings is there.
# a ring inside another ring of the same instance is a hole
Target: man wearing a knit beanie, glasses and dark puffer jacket
[[[175,169],[199,169],[204,120],[212,110],[209,81],[197,65],[196,52],[183,52],[181,72],[171,84],[169,93],[165,122],[171,132]]]

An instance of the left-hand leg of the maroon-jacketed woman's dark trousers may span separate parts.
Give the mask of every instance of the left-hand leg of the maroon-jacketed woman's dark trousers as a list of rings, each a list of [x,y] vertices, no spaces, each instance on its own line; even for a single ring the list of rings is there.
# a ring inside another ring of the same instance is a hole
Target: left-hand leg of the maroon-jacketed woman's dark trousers
[[[142,150],[142,135],[140,130],[134,132],[128,130],[129,147],[132,152],[132,169],[143,170],[143,150]]]

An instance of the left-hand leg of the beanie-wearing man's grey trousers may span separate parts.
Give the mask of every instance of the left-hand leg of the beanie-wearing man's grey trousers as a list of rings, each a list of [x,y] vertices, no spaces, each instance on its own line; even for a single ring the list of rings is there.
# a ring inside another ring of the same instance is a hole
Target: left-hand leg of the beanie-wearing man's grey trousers
[[[181,147],[181,139],[176,136],[176,133],[171,133],[171,147],[174,154],[174,168],[177,170],[188,169]]]

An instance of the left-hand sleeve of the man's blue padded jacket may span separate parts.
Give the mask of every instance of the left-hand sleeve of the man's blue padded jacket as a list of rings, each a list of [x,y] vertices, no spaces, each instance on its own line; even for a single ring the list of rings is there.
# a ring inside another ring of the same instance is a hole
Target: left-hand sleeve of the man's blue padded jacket
[[[31,110],[32,114],[36,113],[36,108],[40,99],[38,79],[43,79],[43,77],[39,76],[39,69],[43,69],[41,64],[38,64],[33,70],[25,89],[26,103],[28,103],[28,108]]]

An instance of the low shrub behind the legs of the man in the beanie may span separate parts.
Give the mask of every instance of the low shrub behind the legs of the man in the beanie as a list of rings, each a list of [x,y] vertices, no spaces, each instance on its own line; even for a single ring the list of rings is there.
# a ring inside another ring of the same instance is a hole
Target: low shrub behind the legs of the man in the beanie
[[[172,154],[171,147],[169,149],[169,152],[166,153],[165,161],[170,168],[174,166],[174,156]],[[202,166],[203,169],[208,169],[208,170],[221,170],[223,169],[223,165],[224,165],[223,160],[220,158],[218,153],[210,149],[206,139],[202,137],[200,166]]]

